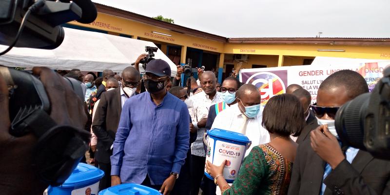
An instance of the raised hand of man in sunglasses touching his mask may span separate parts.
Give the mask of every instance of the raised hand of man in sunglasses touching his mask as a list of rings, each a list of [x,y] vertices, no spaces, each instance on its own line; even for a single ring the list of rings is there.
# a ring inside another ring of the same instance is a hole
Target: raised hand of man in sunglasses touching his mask
[[[326,125],[321,125],[310,132],[312,149],[325,160],[332,169],[335,169],[345,156],[335,136],[329,132]]]

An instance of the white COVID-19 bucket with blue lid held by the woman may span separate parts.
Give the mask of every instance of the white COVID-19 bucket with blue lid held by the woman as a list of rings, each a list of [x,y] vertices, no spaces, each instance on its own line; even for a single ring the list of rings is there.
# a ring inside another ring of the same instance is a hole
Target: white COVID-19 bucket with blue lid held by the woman
[[[219,166],[224,160],[227,160],[223,169],[223,177],[228,183],[233,183],[251,141],[244,134],[223,129],[211,129],[207,131],[207,135],[209,139],[207,141],[206,161],[208,160]],[[206,169],[204,174],[214,180],[206,172]]]

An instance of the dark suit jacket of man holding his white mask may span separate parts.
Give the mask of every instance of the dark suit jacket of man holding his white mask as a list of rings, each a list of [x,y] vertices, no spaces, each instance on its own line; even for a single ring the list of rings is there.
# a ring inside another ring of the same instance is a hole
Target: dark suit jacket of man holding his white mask
[[[299,144],[288,195],[318,195],[326,162],[306,140]],[[342,161],[325,178],[324,195],[390,195],[390,161],[359,150],[352,163]]]

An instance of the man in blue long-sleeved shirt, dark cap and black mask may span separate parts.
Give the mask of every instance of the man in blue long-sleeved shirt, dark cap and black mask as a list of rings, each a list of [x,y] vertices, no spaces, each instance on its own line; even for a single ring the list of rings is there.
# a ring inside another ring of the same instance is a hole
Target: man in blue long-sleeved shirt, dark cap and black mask
[[[111,156],[112,186],[137,183],[169,194],[189,149],[187,105],[166,85],[168,63],[150,61],[143,80],[147,92],[126,100]]]

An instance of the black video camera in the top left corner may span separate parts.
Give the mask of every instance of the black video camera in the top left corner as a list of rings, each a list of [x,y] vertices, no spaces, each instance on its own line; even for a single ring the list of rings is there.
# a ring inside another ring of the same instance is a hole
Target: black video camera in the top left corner
[[[0,44],[55,49],[64,39],[61,24],[96,17],[91,0],[0,0]]]

